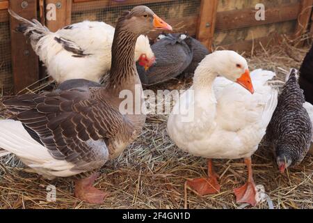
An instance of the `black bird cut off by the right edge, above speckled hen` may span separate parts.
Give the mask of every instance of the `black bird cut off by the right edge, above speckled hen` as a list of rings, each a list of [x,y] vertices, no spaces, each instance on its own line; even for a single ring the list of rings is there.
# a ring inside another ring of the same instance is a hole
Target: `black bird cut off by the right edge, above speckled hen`
[[[304,91],[305,100],[313,104],[313,45],[301,65],[299,84]]]

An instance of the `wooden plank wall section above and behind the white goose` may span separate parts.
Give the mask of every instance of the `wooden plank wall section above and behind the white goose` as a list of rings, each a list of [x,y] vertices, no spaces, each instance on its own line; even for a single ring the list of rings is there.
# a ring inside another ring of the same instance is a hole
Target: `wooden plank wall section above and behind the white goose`
[[[232,1],[232,4],[227,6],[227,1],[223,1],[223,8],[220,7],[218,10],[214,37],[215,47],[250,52],[252,46],[256,49],[261,47],[260,44],[266,46],[278,43],[280,33],[297,38],[307,32],[307,23],[304,22],[305,29],[301,31],[297,31],[298,26],[296,26],[297,20],[310,20],[312,3],[307,0],[264,0],[262,2],[266,9],[266,20],[260,21],[255,20],[257,10],[254,8],[259,1],[239,0],[236,2]],[[236,8],[236,10],[232,10],[232,8]],[[299,15],[303,18],[301,19]],[[295,36],[295,33],[298,33],[298,36]]]

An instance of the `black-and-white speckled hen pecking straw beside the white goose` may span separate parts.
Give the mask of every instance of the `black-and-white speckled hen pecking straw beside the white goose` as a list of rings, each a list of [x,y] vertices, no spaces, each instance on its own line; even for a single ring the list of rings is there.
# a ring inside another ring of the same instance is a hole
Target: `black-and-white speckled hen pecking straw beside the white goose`
[[[310,148],[312,124],[304,103],[305,97],[298,84],[296,70],[292,69],[266,130],[266,139],[274,148],[281,173],[287,167],[300,164]]]

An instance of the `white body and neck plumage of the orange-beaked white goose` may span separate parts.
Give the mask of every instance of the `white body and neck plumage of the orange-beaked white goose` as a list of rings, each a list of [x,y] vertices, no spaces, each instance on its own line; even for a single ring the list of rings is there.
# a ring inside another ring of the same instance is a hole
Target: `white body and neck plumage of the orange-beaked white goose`
[[[181,96],[180,105],[175,105],[168,118],[168,134],[179,148],[196,156],[250,157],[264,137],[277,105],[277,91],[267,84],[275,73],[265,70],[252,72],[255,87],[252,95],[239,84],[208,73],[211,67],[206,61],[216,59],[217,55],[204,59],[195,71],[194,85],[190,89],[195,89],[195,96],[193,98],[186,93]],[[235,58],[238,59],[239,55]],[[219,66],[217,60],[213,64]],[[225,62],[222,64],[222,69],[228,66]],[[181,104],[194,109],[192,121],[183,122],[184,116],[177,114]]]

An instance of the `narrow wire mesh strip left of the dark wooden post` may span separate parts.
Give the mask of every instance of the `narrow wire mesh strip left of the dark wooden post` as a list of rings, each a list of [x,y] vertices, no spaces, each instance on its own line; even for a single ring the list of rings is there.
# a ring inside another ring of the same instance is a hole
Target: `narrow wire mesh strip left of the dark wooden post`
[[[10,24],[0,22],[0,95],[13,87],[10,50]]]

